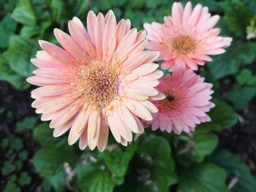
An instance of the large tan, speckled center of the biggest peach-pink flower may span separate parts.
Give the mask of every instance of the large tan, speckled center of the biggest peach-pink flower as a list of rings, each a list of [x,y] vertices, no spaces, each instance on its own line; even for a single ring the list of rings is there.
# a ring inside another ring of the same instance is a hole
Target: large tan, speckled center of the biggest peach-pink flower
[[[108,106],[117,96],[118,74],[114,66],[104,61],[83,65],[77,79],[78,91],[96,108]]]

